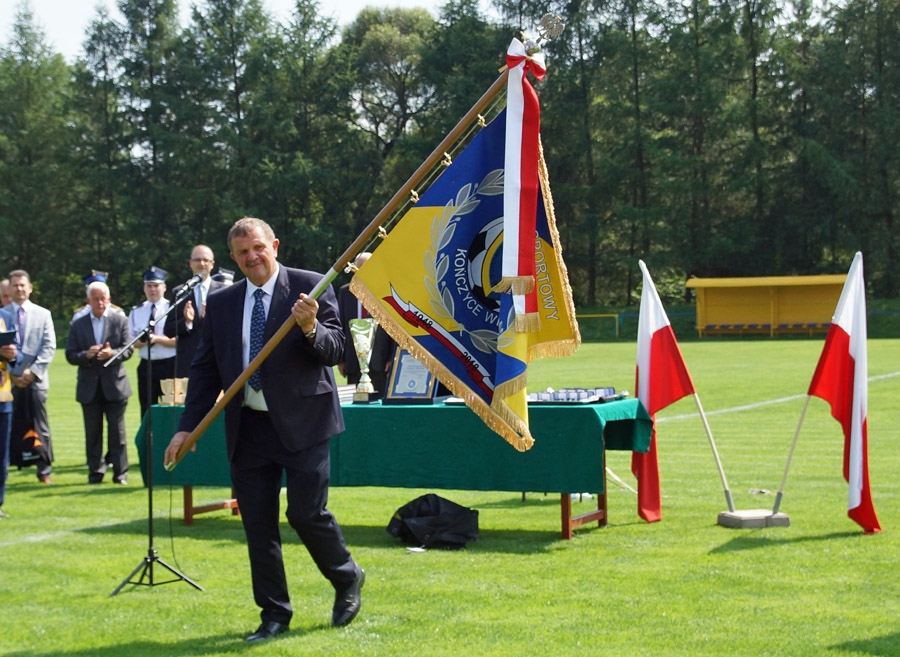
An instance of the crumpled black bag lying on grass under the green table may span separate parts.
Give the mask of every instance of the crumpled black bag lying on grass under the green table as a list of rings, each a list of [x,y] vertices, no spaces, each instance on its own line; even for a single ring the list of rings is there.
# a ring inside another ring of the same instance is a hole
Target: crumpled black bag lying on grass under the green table
[[[428,493],[397,509],[387,531],[407,545],[459,550],[478,540],[478,511]]]

